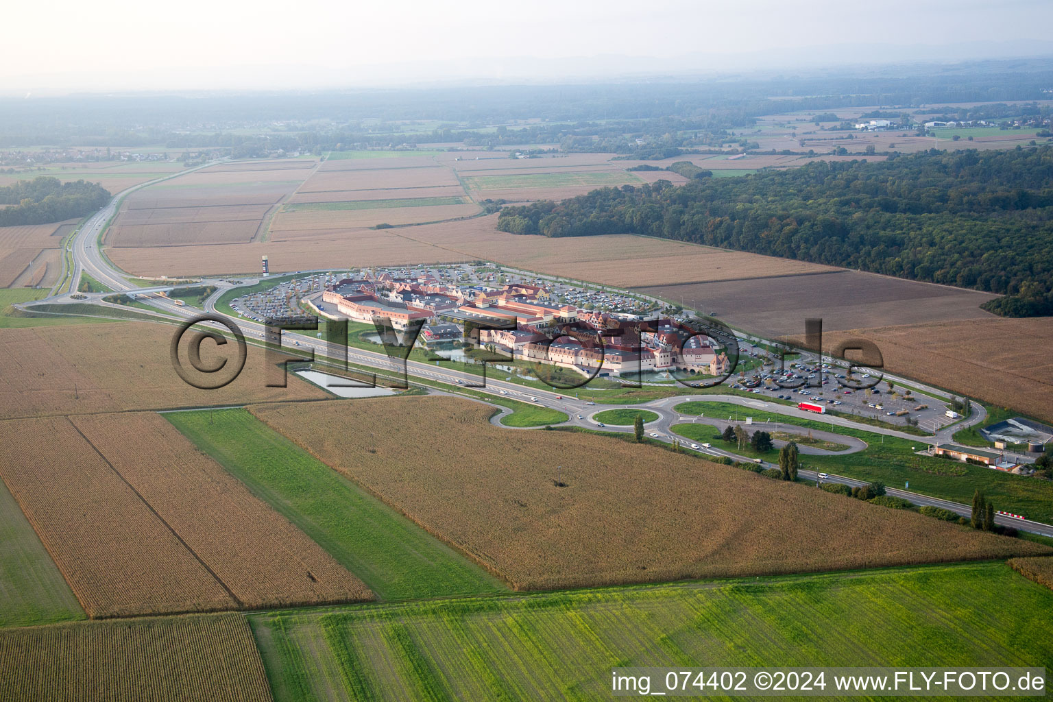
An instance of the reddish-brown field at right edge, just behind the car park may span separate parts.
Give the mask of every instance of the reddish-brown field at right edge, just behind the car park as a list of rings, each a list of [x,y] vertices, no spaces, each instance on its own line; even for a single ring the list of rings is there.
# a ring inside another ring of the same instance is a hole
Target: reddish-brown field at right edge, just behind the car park
[[[876,343],[892,373],[1053,422],[1053,318],[858,328],[824,335],[823,345],[848,338]]]

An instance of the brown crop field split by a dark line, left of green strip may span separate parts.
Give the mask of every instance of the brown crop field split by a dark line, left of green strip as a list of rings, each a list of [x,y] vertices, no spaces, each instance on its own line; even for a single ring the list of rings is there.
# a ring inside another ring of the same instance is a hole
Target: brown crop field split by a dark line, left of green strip
[[[159,415],[12,420],[0,437],[2,477],[92,617],[372,599]]]

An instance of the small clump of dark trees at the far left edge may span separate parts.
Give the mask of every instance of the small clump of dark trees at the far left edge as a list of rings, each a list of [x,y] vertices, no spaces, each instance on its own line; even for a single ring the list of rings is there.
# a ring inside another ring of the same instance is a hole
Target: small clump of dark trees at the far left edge
[[[40,176],[0,187],[0,226],[47,224],[90,215],[110,202],[110,192],[98,183],[63,183]]]

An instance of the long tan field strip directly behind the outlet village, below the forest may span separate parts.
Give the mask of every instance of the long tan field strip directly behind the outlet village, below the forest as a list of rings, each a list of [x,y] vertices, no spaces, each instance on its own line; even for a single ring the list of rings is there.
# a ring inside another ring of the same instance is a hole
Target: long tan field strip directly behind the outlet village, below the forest
[[[256,270],[262,254],[267,254],[271,269],[275,272],[325,268],[335,265],[334,262],[358,266],[486,259],[621,286],[837,270],[804,261],[633,235],[573,239],[519,237],[497,232],[496,221],[496,216],[486,216],[383,232],[333,227],[300,234],[272,227],[275,230],[266,244],[212,246],[207,257],[186,247],[115,248],[110,257],[125,270],[147,276]],[[304,246],[304,241],[311,241],[311,246]]]

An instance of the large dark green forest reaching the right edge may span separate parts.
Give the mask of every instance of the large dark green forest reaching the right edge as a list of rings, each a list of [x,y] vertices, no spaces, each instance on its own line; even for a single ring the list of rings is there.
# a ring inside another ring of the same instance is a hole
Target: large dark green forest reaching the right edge
[[[1002,294],[1053,314],[1053,147],[813,162],[504,207],[502,232],[639,234]]]

